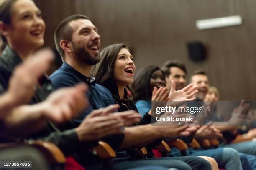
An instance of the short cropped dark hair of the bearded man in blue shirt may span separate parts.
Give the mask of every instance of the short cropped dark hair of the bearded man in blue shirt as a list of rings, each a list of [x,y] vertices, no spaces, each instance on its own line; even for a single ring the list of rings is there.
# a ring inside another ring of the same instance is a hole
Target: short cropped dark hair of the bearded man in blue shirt
[[[64,61],[65,53],[64,53],[64,50],[60,46],[60,42],[61,42],[61,40],[67,40],[67,41],[72,40],[73,30],[70,27],[69,23],[71,21],[79,20],[79,19],[89,20],[89,18],[85,15],[79,15],[79,14],[71,15],[71,16],[65,18],[63,21],[61,21],[61,23],[58,25],[58,27],[56,28],[56,30],[54,32],[54,42],[56,45],[56,49],[61,54],[61,59],[63,61]]]

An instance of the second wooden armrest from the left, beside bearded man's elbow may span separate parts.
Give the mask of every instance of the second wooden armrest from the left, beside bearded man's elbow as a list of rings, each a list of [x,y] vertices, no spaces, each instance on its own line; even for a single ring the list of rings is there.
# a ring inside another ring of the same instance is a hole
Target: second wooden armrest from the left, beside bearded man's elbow
[[[113,148],[111,148],[108,143],[103,141],[98,142],[98,145],[93,148],[93,153],[102,159],[110,159],[116,157],[116,153]]]

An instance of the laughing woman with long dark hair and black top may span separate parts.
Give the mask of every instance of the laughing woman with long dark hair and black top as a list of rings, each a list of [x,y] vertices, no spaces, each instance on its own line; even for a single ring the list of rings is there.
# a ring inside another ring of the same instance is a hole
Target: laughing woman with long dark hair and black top
[[[136,70],[135,64],[133,62],[133,55],[131,55],[128,46],[123,43],[109,45],[102,50],[100,55],[101,61],[95,69],[95,78],[97,83],[105,86],[108,90],[110,90],[115,102],[120,104],[119,111],[137,110],[137,107],[135,106],[133,101],[130,100],[130,97],[128,97],[129,92],[133,94],[130,85],[133,82],[133,75]],[[155,88],[155,90],[157,89]],[[166,91],[163,90],[163,92]],[[167,98],[167,96],[168,94],[165,98]],[[145,120],[143,124],[151,122],[151,115],[149,115],[148,113],[146,113],[146,115],[148,115],[149,117],[149,122]],[[156,143],[158,142],[159,141],[156,141]],[[156,143],[151,143],[150,147],[155,145]],[[151,149],[149,149],[150,147],[148,147],[147,145],[149,153],[151,153]],[[152,158],[153,155],[149,156],[151,156]],[[168,161],[179,159],[185,161],[186,163],[187,160],[192,160],[193,163],[188,162],[191,166],[197,167],[199,169],[205,169],[206,167],[210,168],[208,166],[208,162],[200,157],[169,157],[164,159],[168,159]],[[180,163],[180,165],[174,164],[173,166],[179,169],[179,166],[183,166],[184,164],[183,162]]]

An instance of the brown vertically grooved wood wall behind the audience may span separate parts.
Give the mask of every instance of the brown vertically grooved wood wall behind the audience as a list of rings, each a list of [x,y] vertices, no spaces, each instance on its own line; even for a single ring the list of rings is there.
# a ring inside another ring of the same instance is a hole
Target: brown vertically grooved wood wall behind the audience
[[[256,100],[255,0],[35,0],[46,21],[46,45],[72,14],[87,15],[100,31],[102,48],[125,42],[134,50],[137,72],[147,65],[180,60],[188,73],[202,68],[221,100]],[[243,25],[197,30],[199,19],[241,15]],[[187,42],[201,41],[207,60],[193,62]],[[188,77],[189,78],[189,77]]]

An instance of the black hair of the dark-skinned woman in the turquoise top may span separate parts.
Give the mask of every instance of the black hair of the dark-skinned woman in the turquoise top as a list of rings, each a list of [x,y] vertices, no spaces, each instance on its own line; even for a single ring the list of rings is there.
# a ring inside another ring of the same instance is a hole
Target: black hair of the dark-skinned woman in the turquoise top
[[[157,70],[160,70],[160,68],[155,65],[149,65],[138,74],[132,84],[134,101],[151,100],[152,92],[150,91],[150,77]],[[164,72],[162,70],[160,71],[164,75]]]

